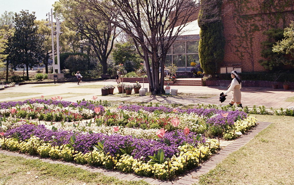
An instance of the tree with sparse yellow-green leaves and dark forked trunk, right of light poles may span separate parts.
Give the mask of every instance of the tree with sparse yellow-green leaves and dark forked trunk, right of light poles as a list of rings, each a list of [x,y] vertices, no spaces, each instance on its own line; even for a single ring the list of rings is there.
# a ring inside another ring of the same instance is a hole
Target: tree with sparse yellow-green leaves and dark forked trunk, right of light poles
[[[101,19],[99,14],[79,6],[73,0],[61,0],[54,6],[54,10],[63,16],[69,28],[78,31],[83,38],[88,39],[102,65],[102,73],[106,74],[107,58],[116,37],[116,26],[112,24],[113,17]]]

